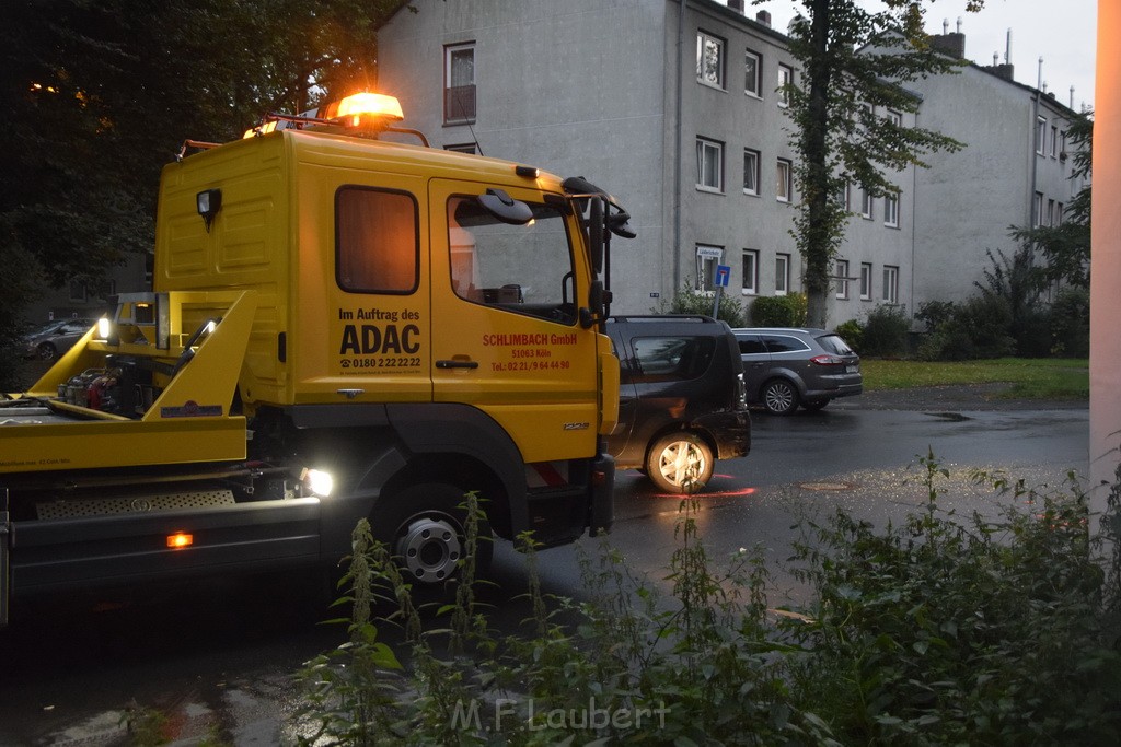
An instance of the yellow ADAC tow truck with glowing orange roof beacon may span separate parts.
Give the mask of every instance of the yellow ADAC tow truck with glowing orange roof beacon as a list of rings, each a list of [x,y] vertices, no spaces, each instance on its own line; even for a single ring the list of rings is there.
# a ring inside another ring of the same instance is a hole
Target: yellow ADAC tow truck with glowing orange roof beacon
[[[610,526],[626,212],[401,119],[358,94],[165,167],[151,292],[0,394],[0,625],[13,594],[330,566],[361,517],[439,585],[469,491],[500,538]]]

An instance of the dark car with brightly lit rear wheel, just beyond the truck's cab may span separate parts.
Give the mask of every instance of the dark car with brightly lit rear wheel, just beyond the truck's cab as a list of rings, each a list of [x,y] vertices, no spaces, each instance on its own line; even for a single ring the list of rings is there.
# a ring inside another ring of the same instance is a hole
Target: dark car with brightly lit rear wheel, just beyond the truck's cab
[[[608,450],[667,493],[695,493],[717,459],[751,448],[751,418],[732,330],[705,316],[612,317],[619,424]]]

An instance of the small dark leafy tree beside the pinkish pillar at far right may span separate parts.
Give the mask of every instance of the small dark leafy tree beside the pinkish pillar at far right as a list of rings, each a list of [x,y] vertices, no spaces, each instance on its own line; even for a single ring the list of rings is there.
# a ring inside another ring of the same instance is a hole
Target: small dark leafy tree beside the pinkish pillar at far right
[[[1076,115],[1067,131],[1067,143],[1074,151],[1072,179],[1090,180],[1093,155],[1093,113]],[[1034,259],[1045,260],[1035,268],[1040,287],[1064,282],[1077,288],[1090,288],[1090,186],[1083,187],[1064,211],[1057,226],[1031,228],[1011,226],[1009,235],[1030,252]]]

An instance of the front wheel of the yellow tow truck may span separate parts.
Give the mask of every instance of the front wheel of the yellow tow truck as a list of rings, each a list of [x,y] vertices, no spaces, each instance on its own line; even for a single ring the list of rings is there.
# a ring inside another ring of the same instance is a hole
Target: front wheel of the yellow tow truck
[[[460,570],[466,552],[464,494],[447,483],[411,485],[374,508],[373,535],[389,548],[405,580],[414,587],[438,587]],[[494,548],[490,523],[479,517],[475,573],[490,567]]]

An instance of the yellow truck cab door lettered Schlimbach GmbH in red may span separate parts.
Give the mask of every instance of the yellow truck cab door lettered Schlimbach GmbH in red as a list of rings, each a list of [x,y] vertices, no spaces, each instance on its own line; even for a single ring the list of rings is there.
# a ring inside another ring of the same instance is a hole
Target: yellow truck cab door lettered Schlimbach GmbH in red
[[[480,204],[489,189],[534,220],[503,223]],[[594,455],[595,335],[577,320],[587,268],[574,217],[537,190],[450,179],[430,183],[429,205],[434,401],[483,410],[527,463]]]

